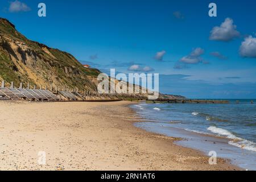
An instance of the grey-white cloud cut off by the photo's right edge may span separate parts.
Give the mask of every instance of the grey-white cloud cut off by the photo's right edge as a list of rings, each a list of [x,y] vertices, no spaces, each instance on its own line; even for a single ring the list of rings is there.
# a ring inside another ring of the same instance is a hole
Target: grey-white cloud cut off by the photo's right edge
[[[240,55],[256,58],[256,38],[253,38],[253,36],[245,38],[240,46]]]

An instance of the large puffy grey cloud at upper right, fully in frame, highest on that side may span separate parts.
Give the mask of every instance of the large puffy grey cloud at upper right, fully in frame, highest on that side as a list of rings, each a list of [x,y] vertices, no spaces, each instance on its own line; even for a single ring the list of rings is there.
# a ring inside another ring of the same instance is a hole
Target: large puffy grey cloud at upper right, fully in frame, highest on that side
[[[224,22],[221,23],[220,27],[213,27],[210,31],[210,40],[219,40],[228,42],[234,38],[240,36],[240,32],[237,30],[237,26],[233,24],[233,19],[226,18]]]

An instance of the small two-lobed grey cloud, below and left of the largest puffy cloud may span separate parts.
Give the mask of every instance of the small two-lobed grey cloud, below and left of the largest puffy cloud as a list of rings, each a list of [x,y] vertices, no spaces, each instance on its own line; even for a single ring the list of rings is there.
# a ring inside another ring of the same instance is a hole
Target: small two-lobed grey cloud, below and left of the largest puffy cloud
[[[180,59],[180,62],[185,64],[197,64],[200,63],[203,59],[201,55],[203,55],[204,49],[198,47],[194,49],[189,55],[184,56]]]

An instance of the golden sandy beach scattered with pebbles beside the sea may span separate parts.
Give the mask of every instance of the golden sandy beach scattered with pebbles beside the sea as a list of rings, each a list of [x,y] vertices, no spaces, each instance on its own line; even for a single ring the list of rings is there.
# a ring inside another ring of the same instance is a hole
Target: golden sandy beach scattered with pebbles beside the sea
[[[133,125],[131,102],[1,101],[0,170],[239,170]],[[39,165],[38,152],[46,152]]]

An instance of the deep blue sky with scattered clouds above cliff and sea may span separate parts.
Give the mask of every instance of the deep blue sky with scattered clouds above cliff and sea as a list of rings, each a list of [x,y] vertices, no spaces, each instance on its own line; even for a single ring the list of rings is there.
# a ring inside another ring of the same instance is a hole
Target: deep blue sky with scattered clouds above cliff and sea
[[[255,9],[253,0],[0,2],[28,39],[102,72],[159,73],[160,92],[188,98],[256,98]]]

